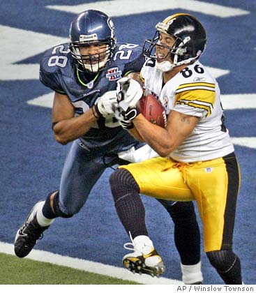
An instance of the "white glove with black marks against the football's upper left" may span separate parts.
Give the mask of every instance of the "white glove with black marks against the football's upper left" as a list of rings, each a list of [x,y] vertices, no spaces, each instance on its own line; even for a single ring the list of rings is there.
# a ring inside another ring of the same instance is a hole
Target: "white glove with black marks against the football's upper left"
[[[134,108],[137,101],[142,97],[143,91],[140,83],[132,78],[123,77],[117,81],[116,96],[119,107],[126,111]]]

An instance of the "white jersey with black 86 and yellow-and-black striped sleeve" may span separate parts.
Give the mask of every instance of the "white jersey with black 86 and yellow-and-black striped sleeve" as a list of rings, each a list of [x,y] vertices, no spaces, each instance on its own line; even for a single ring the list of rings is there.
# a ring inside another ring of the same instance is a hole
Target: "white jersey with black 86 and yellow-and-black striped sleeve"
[[[145,94],[156,96],[166,114],[174,110],[199,117],[199,122],[186,140],[170,153],[184,163],[220,158],[234,151],[224,126],[218,82],[199,61],[190,64],[163,85],[163,73],[149,59],[141,71]]]

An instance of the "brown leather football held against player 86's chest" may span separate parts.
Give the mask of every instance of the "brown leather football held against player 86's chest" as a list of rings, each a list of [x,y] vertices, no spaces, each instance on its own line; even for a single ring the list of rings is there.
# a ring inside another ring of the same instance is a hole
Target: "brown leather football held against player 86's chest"
[[[165,109],[160,101],[150,93],[140,98],[137,110],[151,123],[165,128],[167,124]]]

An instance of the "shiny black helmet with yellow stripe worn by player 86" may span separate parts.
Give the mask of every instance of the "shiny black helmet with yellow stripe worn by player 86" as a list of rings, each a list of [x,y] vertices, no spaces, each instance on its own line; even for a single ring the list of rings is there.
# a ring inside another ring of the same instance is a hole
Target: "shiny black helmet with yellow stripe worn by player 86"
[[[160,32],[167,33],[176,39],[174,45],[170,47],[170,52],[168,52],[172,58],[172,67],[193,63],[199,59],[206,47],[206,31],[201,22],[192,15],[176,13],[156,24],[156,33],[153,40],[145,40],[143,52],[146,57],[156,59],[156,45],[161,46],[159,42]]]

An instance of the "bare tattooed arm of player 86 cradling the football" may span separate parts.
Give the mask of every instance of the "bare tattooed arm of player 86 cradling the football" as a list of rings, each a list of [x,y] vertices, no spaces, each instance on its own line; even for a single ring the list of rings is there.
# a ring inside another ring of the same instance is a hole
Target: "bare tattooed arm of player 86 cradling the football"
[[[160,156],[169,155],[190,135],[199,118],[188,116],[176,111],[170,112],[166,128],[154,125],[147,121],[142,114],[138,115],[133,123],[144,142]]]

